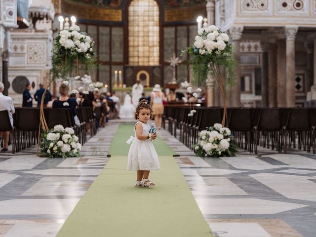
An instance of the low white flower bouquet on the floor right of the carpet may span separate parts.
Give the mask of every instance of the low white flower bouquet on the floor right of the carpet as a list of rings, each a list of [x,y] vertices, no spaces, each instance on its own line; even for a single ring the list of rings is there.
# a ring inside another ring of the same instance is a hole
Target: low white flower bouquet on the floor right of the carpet
[[[194,151],[198,157],[233,157],[237,152],[237,145],[231,130],[220,123],[199,134],[199,141],[195,144]]]

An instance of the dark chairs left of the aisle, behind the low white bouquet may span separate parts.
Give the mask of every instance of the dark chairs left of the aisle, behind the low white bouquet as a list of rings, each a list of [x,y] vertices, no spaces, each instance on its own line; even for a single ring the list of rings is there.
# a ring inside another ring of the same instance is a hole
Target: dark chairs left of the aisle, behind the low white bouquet
[[[49,129],[58,124],[72,127],[79,137],[80,143],[84,144],[86,142],[86,127],[90,128],[91,137],[96,134],[95,117],[91,107],[78,108],[76,113],[80,121],[78,125],[75,124],[71,109],[44,109],[44,116]],[[9,141],[12,143],[12,153],[37,144],[40,124],[39,108],[15,108],[13,127],[7,111],[0,111],[0,121],[0,131],[10,131]]]

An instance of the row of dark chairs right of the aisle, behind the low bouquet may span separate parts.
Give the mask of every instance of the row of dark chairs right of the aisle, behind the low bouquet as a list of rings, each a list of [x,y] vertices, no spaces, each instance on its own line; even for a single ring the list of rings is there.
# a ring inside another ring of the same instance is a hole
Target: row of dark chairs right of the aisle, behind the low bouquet
[[[188,117],[188,107],[165,108],[168,129],[186,146],[197,143],[198,133],[214,123],[221,123],[222,108],[197,107]],[[257,154],[257,146],[287,152],[288,147],[315,153],[316,108],[229,108],[228,127],[240,148]],[[165,127],[165,124],[163,124]]]

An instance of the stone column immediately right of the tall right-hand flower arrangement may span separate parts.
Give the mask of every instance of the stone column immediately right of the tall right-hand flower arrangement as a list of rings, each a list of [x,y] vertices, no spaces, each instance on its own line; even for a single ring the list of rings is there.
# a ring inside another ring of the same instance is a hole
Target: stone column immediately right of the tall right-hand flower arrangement
[[[229,29],[230,38],[235,48],[235,59],[237,61],[237,67],[235,70],[235,83],[229,91],[229,105],[233,107],[240,106],[240,39],[243,31],[243,26],[235,26]]]

